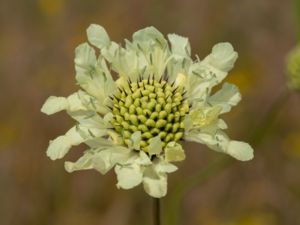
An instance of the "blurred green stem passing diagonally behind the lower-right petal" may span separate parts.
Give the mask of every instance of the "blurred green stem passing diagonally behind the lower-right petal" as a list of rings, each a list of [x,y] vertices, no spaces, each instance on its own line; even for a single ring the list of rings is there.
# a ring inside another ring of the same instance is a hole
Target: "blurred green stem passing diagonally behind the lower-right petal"
[[[290,92],[284,89],[266,112],[262,118],[262,122],[257,126],[253,134],[250,136],[250,143],[253,147],[258,146],[271,128],[282,106],[287,102],[290,96]],[[172,194],[170,194],[170,202],[168,204],[168,221],[166,224],[177,225],[180,224],[180,204],[183,196],[186,192],[191,190],[195,186],[199,186],[210,177],[216,176],[225,169],[233,165],[235,160],[227,157],[220,156],[216,161],[208,164],[208,166],[202,169],[197,175],[187,178],[185,181],[176,187]]]

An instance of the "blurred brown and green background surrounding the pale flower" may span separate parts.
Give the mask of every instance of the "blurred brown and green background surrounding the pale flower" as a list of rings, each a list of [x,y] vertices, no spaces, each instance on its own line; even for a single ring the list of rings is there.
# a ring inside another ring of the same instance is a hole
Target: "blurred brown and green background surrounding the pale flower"
[[[165,225],[300,224],[300,98],[282,97],[286,54],[296,45],[294,11],[282,0],[2,0],[0,224],[152,224],[152,199],[141,187],[118,190],[113,172],[68,174],[64,160],[45,154],[72,120],[40,108],[49,95],[77,90],[74,49],[91,23],[117,42],[153,25],[188,37],[201,58],[221,41],[239,52],[227,81],[240,87],[243,101],[224,118],[232,138],[255,146],[255,159],[211,166],[228,157],[185,144],[187,159],[162,199]]]

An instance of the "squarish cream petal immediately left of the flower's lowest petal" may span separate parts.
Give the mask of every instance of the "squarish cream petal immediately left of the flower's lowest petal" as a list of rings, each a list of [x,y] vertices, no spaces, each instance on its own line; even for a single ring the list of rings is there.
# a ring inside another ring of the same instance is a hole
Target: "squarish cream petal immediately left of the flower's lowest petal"
[[[117,174],[117,187],[123,189],[130,189],[139,185],[143,180],[143,173],[139,165],[132,164],[130,166],[115,167]]]

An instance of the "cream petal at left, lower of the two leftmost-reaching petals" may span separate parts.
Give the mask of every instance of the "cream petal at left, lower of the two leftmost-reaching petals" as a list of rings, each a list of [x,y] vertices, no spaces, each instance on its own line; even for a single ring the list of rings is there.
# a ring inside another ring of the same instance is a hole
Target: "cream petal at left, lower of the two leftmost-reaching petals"
[[[82,136],[78,133],[76,127],[72,127],[65,135],[59,136],[50,141],[47,149],[47,156],[52,160],[63,158],[72,146],[84,142]]]

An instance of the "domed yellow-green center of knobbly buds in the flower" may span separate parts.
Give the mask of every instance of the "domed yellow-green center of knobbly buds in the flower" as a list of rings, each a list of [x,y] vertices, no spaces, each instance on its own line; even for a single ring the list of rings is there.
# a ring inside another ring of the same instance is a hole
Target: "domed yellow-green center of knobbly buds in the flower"
[[[179,141],[184,133],[184,117],[189,105],[181,86],[167,80],[128,81],[111,97],[114,119],[112,125],[129,145],[131,135],[141,132],[140,147],[147,152],[149,140],[159,136],[164,148],[171,141]]]

